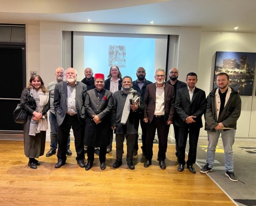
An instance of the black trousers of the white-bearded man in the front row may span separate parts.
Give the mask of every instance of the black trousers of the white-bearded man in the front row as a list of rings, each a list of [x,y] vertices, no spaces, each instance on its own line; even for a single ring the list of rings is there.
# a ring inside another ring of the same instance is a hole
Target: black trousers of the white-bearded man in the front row
[[[76,160],[84,162],[84,125],[80,123],[77,115],[65,115],[62,125],[58,126],[58,162],[66,162],[66,144],[68,143],[70,129],[72,128],[75,136]]]

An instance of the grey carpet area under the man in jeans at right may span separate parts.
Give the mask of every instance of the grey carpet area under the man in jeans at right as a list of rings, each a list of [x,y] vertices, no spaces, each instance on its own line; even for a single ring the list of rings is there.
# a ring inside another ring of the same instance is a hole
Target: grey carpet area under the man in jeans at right
[[[197,148],[197,164],[205,165],[207,138],[199,138]],[[232,182],[225,176],[224,150],[221,138],[216,149],[215,163],[212,172],[208,175],[234,199],[237,205],[256,205],[256,139],[236,138],[233,146],[234,151],[234,172],[239,179]],[[201,175],[205,175],[201,173]]]

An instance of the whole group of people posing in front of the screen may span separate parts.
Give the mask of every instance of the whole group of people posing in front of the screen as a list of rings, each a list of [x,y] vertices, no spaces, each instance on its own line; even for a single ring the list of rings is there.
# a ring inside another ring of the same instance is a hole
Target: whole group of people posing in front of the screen
[[[63,81],[65,75],[65,81]],[[178,171],[184,171],[185,165],[191,173],[196,173],[197,143],[200,128],[203,127],[202,115],[205,115],[205,130],[208,133],[208,152],[206,165],[202,173],[212,171],[218,138],[222,138],[224,147],[225,174],[231,181],[237,182],[234,173],[233,150],[236,121],[241,112],[239,94],[228,86],[229,76],[217,74],[215,88],[206,98],[205,92],[196,87],[196,73],[188,73],[186,82],[178,80],[179,70],[169,70],[169,80],[164,69],[156,69],[155,83],[145,79],[143,67],[137,69],[137,80],[130,76],[122,79],[118,66],[111,66],[107,79],[103,74],[93,76],[93,70],[84,70],[85,78],[77,81],[74,68],[66,71],[56,69],[56,81],[47,89],[39,75],[29,80],[23,90],[21,102],[28,99],[25,110],[28,120],[24,125],[25,155],[28,166],[36,169],[40,163],[35,158],[42,156],[45,150],[47,129],[47,111],[50,109],[51,149],[47,157],[56,153],[58,162],[55,168],[66,163],[70,151],[70,130],[75,138],[77,164],[90,170],[93,167],[94,153],[99,155],[100,168],[106,169],[106,153],[112,151],[113,132],[116,141],[116,157],[113,168],[122,165],[124,140],[126,139],[126,162],[129,169],[135,169],[133,157],[138,153],[138,128],[142,129],[142,153],[145,156],[144,167],[148,168],[153,159],[155,133],[159,143],[157,160],[161,169],[166,169],[166,151],[170,125],[173,124],[175,136],[175,154]],[[185,149],[189,137],[188,159]],[[85,163],[84,151],[87,152]]]

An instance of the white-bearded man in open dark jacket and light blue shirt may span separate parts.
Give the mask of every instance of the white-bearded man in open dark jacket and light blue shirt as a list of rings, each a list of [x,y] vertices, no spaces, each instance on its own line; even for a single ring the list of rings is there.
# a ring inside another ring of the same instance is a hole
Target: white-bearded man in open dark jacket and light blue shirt
[[[58,163],[55,168],[60,168],[66,163],[66,143],[70,129],[74,132],[77,164],[84,168],[84,100],[86,99],[87,86],[76,81],[77,73],[74,68],[66,69],[66,81],[57,83],[54,89],[54,110],[58,125]]]

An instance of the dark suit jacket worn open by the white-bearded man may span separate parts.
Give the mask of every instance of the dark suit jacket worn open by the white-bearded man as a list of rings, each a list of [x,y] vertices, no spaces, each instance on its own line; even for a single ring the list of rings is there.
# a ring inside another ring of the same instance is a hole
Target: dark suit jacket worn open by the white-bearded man
[[[84,100],[86,99],[87,86],[84,83],[76,82],[76,110],[77,117],[80,123],[83,124],[85,113],[84,113]],[[54,88],[54,110],[56,114],[57,124],[60,126],[66,115],[68,105],[68,88],[67,82],[62,81],[56,84]]]

